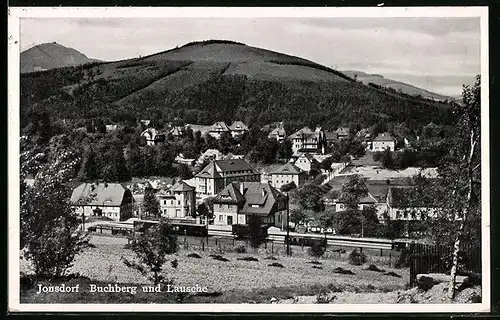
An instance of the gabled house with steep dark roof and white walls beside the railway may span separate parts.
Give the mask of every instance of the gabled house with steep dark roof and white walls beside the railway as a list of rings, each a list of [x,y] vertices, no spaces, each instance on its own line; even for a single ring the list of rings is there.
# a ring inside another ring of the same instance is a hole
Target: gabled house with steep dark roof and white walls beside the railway
[[[282,230],[287,223],[287,197],[268,183],[232,182],[217,194],[213,203],[216,226],[246,225],[251,215]]]

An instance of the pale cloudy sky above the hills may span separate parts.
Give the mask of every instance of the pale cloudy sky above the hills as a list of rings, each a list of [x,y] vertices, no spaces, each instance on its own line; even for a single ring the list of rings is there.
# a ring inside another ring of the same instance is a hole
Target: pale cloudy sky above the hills
[[[233,40],[459,96],[480,73],[479,18],[22,18],[21,50],[57,42],[105,61]]]

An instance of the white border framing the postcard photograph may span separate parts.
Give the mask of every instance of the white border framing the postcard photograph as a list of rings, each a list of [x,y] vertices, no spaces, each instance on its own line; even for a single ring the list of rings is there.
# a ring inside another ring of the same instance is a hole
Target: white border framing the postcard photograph
[[[479,304],[21,304],[19,292],[19,81],[20,18],[299,18],[299,17],[480,17],[481,26],[481,181],[482,303]],[[8,310],[9,312],[440,312],[490,311],[489,62],[487,7],[415,8],[132,8],[54,7],[8,10]]]

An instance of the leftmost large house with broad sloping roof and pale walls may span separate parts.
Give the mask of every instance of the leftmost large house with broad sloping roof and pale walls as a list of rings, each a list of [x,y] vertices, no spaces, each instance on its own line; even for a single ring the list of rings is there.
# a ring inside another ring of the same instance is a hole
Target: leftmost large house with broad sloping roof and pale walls
[[[102,216],[115,221],[132,217],[132,193],[119,183],[82,183],[73,190],[70,201],[78,215]]]

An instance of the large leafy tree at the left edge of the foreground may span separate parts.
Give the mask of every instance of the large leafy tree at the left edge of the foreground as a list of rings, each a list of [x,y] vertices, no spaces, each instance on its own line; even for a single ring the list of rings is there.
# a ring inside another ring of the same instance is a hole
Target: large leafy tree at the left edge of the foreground
[[[37,169],[35,184],[28,187],[24,177],[38,166],[36,159],[29,151],[21,153],[20,243],[36,275],[59,277],[89,246],[88,236],[78,231],[79,219],[64,185],[79,160],[72,152],[60,152]]]

